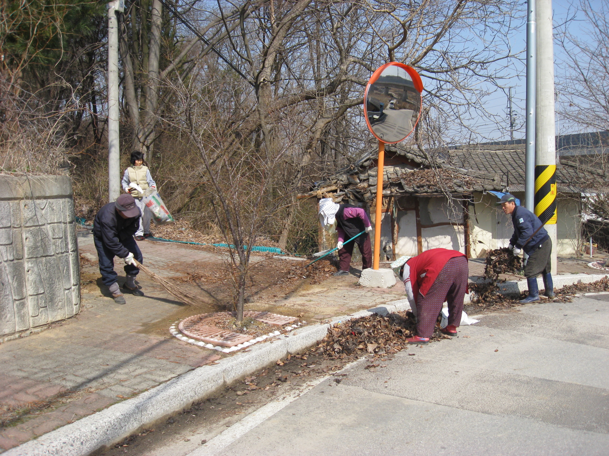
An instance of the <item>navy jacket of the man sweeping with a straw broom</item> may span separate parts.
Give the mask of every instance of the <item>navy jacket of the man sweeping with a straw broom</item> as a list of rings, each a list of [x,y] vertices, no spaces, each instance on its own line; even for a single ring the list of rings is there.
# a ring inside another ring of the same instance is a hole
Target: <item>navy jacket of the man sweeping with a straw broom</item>
[[[141,212],[140,212],[141,215]],[[108,202],[97,212],[93,221],[93,235],[100,239],[104,246],[119,258],[125,258],[129,250],[121,241],[132,237],[139,227],[139,215],[137,217],[122,218],[116,212],[113,202]]]

